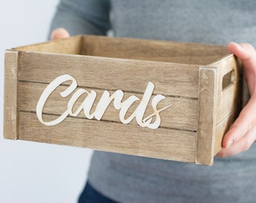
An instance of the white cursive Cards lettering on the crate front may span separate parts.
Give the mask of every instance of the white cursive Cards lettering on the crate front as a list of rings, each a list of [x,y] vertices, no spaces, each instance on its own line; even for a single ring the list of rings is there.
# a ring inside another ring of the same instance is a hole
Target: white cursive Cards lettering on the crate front
[[[69,80],[71,80],[72,83],[67,87],[66,90],[60,92],[62,98],[65,98],[72,94],[67,104],[66,111],[64,111],[55,120],[44,121],[42,116],[44,105],[47,102],[47,99],[58,86]],[[91,108],[93,107],[93,104],[96,100],[96,92],[94,90],[88,92],[86,89],[78,89],[78,83],[75,78],[70,76],[69,74],[64,74],[56,77],[56,79],[53,80],[44,89],[44,92],[41,94],[41,97],[39,98],[38,104],[36,106],[36,114],[38,120],[46,126],[55,126],[65,120],[66,117],[68,117],[69,115],[72,117],[77,117],[78,114],[81,113],[81,111],[84,111],[84,116],[87,119],[91,120],[95,118],[96,120],[101,120],[103,115],[105,114],[105,111],[108,108],[108,105],[113,102],[114,108],[119,111],[119,119],[121,123],[128,124],[133,119],[136,119],[136,122],[139,124],[139,126],[148,127],[149,129],[157,129],[161,123],[160,112],[166,110],[166,108],[171,107],[173,104],[168,105],[165,108],[157,109],[158,103],[166,97],[163,95],[154,95],[154,98],[152,98],[151,102],[151,107],[154,113],[148,117],[145,117],[145,111],[148,108],[148,104],[151,100],[153,91],[154,83],[149,82],[148,86],[145,89],[145,93],[141,99],[138,98],[136,95],[131,95],[129,98],[126,98],[126,100],[123,101],[124,92],[122,90],[118,89],[112,95],[110,95],[110,93],[105,90],[102,93],[102,97],[99,99],[98,104],[96,105],[95,111],[91,113]],[[86,97],[84,98],[84,101],[81,102],[81,105],[79,105],[78,108],[74,110],[74,105],[78,101],[78,98],[81,97],[81,95],[86,95]],[[139,105],[137,106],[136,110],[133,111],[133,114],[131,114],[130,117],[125,118],[126,113],[130,109],[131,105],[138,101]],[[154,117],[155,119],[153,121]]]

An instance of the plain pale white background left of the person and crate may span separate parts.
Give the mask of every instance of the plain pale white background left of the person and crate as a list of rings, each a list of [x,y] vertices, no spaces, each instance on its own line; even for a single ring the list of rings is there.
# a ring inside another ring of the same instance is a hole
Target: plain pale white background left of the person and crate
[[[5,49],[46,41],[58,0],[0,0],[0,202],[76,202],[91,150],[3,138]]]

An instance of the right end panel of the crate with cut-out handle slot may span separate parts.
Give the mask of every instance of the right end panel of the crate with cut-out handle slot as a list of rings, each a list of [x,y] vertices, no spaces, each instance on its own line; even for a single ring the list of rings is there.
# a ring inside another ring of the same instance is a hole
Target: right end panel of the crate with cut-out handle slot
[[[214,64],[218,68],[215,154],[221,150],[222,139],[238,117],[243,105],[242,64],[230,54]],[[226,83],[226,84],[225,84]]]

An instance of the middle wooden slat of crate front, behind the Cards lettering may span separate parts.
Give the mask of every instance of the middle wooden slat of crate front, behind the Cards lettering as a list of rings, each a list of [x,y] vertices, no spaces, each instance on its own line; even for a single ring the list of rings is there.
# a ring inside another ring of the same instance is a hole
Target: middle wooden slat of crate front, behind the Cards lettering
[[[19,94],[20,94],[19,111],[35,112],[38,99],[40,98],[41,93],[44,91],[46,86],[47,84],[42,84],[42,83],[20,82],[19,83]],[[69,99],[71,98],[71,95],[67,98],[62,98],[59,95],[59,93],[65,90],[67,87],[68,86],[59,86],[59,88],[56,89],[56,91],[54,91],[52,95],[50,95],[50,98],[48,99],[44,107],[45,114],[60,115],[66,111],[67,104],[69,102]],[[78,89],[80,88],[81,87],[79,87]],[[95,90],[97,92],[97,98],[96,98],[96,101],[94,102],[94,105],[91,111],[93,113],[95,111],[96,105],[99,102],[99,98],[101,97],[103,90],[90,89],[90,88],[83,88],[83,89],[86,89],[88,92],[90,92],[91,90]],[[111,93],[113,92],[111,91]],[[123,101],[126,98],[130,97],[131,95],[136,95],[139,98],[143,97],[143,95],[139,93],[124,92]],[[74,108],[74,111],[78,108],[78,105],[81,104],[85,96],[81,97],[81,99],[78,100]],[[154,95],[152,96],[152,98],[153,97]],[[168,105],[173,104],[172,107],[167,108],[166,110],[160,112],[160,117],[161,117],[160,126],[165,128],[181,129],[181,130],[196,132],[197,131],[197,102],[198,101],[194,99],[167,97],[157,105],[157,108],[161,109],[161,108],[165,108]],[[127,113],[127,116],[132,114],[138,105],[139,105],[139,102],[134,104],[131,107],[130,111]],[[152,113],[153,111],[151,108],[151,102],[149,102],[148,110],[146,111],[145,117],[149,116]],[[79,117],[84,117],[84,113],[81,113]],[[120,122],[119,111],[114,109],[113,104],[109,105],[107,111],[102,117],[102,120]],[[133,124],[138,125],[136,123],[136,120],[133,121]]]

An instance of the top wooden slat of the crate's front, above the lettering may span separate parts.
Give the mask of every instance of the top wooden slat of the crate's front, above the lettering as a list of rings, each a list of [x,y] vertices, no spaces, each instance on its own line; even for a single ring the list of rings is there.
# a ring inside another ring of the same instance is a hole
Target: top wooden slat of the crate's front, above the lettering
[[[157,94],[198,96],[197,65],[26,52],[20,52],[19,61],[20,80],[50,83],[71,74],[80,86],[144,92],[152,82]]]

